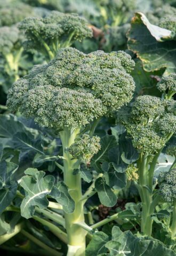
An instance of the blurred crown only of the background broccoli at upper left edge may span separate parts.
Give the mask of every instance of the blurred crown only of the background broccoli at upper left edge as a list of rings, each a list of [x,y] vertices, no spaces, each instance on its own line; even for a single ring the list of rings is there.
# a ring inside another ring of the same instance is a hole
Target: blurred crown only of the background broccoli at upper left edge
[[[0,28],[0,54],[8,54],[18,45],[20,40],[19,30],[17,27]]]

